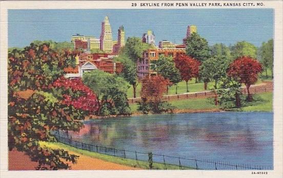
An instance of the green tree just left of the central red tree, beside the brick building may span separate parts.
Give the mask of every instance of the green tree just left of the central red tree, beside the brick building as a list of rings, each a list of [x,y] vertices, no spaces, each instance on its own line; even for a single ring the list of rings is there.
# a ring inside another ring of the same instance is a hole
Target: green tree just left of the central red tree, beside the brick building
[[[181,81],[181,74],[176,68],[175,63],[172,57],[165,57],[164,55],[160,56],[157,61],[153,61],[156,65],[156,71],[158,74],[163,76],[165,79],[170,81],[168,86],[176,85],[176,94],[177,94],[177,83]],[[167,86],[167,93],[168,93]]]

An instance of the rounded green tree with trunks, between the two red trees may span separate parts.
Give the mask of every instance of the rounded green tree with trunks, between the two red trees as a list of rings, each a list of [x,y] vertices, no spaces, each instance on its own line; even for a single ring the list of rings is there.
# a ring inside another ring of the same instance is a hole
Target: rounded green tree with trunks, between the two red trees
[[[227,68],[230,64],[225,56],[213,56],[203,63],[199,67],[201,78],[205,82],[205,90],[207,90],[207,83],[214,80],[214,88],[217,88],[218,80],[226,75]]]

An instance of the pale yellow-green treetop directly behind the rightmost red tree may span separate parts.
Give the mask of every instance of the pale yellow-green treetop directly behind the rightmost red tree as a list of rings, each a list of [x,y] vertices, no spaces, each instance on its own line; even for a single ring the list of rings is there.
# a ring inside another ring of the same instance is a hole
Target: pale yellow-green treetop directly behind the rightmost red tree
[[[231,47],[232,56],[234,59],[241,56],[248,56],[251,58],[256,58],[256,47],[247,41],[239,41],[234,46]]]

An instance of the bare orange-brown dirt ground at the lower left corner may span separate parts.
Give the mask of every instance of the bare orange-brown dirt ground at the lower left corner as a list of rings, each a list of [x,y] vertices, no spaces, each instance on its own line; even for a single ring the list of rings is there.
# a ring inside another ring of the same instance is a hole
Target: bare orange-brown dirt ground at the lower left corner
[[[70,163],[71,170],[134,170],[137,168],[106,162],[103,160],[87,157],[82,154],[69,152],[79,156],[76,164]],[[28,155],[23,152],[9,151],[9,170],[35,170],[37,163],[32,162]]]

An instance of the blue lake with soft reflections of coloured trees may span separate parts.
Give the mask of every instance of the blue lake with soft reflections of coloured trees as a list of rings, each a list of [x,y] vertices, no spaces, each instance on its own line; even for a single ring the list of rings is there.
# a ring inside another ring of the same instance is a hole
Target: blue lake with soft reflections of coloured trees
[[[84,124],[69,136],[118,149],[273,168],[273,113],[149,115]]]

